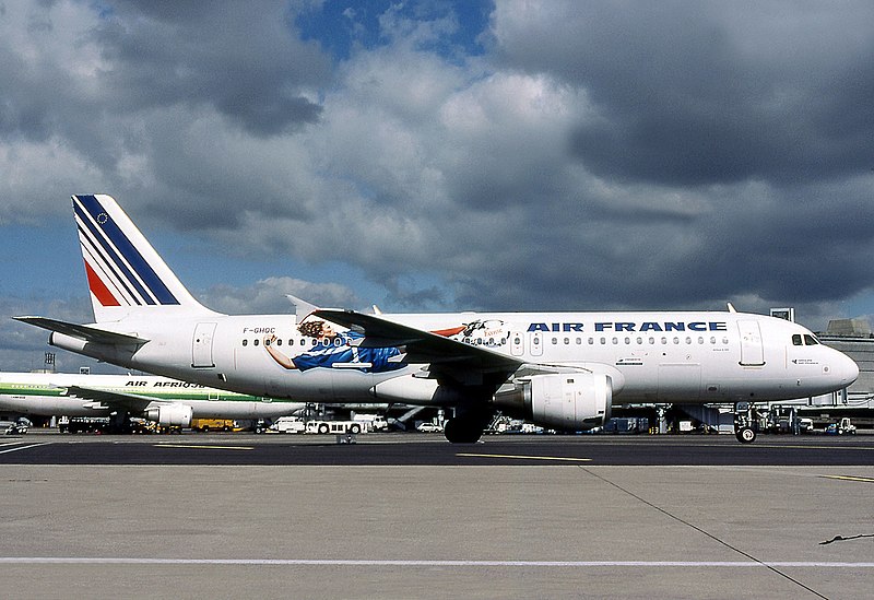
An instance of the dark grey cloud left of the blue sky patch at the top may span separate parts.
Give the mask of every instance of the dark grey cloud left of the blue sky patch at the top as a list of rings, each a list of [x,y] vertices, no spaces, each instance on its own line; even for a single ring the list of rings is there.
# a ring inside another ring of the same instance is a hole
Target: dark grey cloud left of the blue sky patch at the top
[[[285,2],[118,2],[94,32],[110,69],[107,92],[130,107],[210,104],[257,136],[315,122],[302,87],[328,62],[292,35]]]

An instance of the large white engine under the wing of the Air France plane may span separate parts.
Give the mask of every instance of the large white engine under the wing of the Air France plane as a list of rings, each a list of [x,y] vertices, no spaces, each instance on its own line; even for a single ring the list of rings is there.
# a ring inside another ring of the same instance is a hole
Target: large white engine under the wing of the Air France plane
[[[603,373],[534,375],[496,393],[494,403],[535,425],[584,431],[603,426],[610,419],[613,386]]]

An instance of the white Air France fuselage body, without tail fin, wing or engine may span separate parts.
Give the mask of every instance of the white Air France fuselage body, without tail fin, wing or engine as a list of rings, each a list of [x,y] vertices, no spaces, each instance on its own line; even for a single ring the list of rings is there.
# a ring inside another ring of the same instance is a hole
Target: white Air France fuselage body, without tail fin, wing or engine
[[[816,342],[807,329],[743,313],[458,313],[382,318],[427,331],[468,326],[456,334],[464,343],[525,363],[604,373],[611,378],[615,404],[787,400],[834,391],[858,375],[850,358]],[[374,401],[377,384],[423,366],[381,373],[349,363],[285,368],[270,356],[265,343],[290,356],[319,343],[299,333],[291,315],[214,314],[160,323],[126,320],[119,329],[113,323],[101,328],[150,341],[139,348],[94,344],[56,332],[52,343],[130,368],[306,402]],[[353,342],[338,338],[335,343]]]

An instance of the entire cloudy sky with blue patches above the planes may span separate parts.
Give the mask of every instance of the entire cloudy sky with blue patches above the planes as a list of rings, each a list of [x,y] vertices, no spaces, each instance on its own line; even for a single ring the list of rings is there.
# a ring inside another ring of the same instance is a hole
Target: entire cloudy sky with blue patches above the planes
[[[0,0],[0,369],[91,320],[93,192],[227,313],[823,329],[874,314],[874,3]]]

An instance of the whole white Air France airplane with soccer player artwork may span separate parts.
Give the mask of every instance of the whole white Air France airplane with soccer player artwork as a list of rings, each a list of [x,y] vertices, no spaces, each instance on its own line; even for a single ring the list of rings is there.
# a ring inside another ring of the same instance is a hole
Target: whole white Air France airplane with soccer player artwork
[[[476,442],[496,411],[544,427],[602,425],[636,402],[736,403],[849,386],[855,363],[782,319],[728,313],[228,316],[186,290],[109,196],[73,196],[95,322],[16,319],[49,343],[128,368],[300,402],[454,410],[445,435]],[[755,431],[737,426],[742,442]]]

